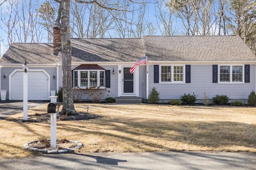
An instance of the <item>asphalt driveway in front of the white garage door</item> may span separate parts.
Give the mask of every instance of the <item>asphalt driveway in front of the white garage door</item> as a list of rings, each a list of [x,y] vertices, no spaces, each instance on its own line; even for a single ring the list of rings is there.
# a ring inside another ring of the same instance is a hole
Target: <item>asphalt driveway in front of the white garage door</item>
[[[28,101],[28,109],[47,102],[39,100]],[[0,100],[0,121],[21,112],[23,112],[23,101]]]

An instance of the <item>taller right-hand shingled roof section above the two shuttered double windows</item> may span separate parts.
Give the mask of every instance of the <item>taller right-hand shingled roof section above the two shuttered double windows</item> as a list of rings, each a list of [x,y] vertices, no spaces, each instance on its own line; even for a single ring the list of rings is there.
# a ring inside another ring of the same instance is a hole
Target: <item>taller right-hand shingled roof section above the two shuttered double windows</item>
[[[149,61],[256,61],[237,35],[144,36]]]

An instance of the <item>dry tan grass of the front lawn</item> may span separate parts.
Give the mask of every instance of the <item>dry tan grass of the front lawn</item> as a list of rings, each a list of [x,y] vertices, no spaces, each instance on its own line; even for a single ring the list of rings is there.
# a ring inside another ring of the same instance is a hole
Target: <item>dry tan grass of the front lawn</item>
[[[256,107],[75,104],[77,111],[103,117],[58,121],[57,139],[81,141],[87,152],[170,150],[256,152]],[[28,115],[46,113],[47,104]],[[22,113],[12,117],[22,117]],[[0,158],[33,153],[24,143],[50,138],[50,123],[0,121]]]

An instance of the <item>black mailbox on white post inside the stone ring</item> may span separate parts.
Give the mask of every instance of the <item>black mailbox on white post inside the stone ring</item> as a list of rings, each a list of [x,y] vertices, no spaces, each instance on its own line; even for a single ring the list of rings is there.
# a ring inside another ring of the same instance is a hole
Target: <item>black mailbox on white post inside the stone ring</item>
[[[51,148],[56,149],[56,130],[57,130],[57,116],[56,105],[54,103],[48,104],[47,112],[51,114]]]

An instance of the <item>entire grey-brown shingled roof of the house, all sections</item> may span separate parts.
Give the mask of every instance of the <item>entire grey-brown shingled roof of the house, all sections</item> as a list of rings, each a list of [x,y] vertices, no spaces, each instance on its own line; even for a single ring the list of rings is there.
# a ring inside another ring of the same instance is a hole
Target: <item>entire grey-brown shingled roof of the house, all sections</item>
[[[72,62],[256,61],[239,36],[144,36],[141,38],[71,39]],[[49,64],[61,61],[51,43],[14,43],[0,63]]]

